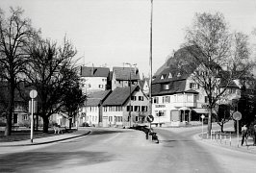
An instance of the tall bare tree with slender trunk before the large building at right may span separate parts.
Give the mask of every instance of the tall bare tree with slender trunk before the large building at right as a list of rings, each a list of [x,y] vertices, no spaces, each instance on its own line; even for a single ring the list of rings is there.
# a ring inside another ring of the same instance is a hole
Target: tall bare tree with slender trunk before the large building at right
[[[192,27],[187,29],[185,46],[198,66],[192,79],[208,98],[210,134],[218,101],[230,84],[251,67],[247,37],[242,33],[231,34],[221,13],[196,13]]]

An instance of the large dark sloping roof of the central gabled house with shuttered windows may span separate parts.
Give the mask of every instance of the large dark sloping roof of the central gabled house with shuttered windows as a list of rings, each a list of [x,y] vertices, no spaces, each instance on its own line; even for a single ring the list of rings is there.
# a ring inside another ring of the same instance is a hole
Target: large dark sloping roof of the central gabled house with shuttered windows
[[[131,86],[133,93],[139,86]],[[104,101],[103,106],[122,106],[130,97],[130,87],[116,87]]]

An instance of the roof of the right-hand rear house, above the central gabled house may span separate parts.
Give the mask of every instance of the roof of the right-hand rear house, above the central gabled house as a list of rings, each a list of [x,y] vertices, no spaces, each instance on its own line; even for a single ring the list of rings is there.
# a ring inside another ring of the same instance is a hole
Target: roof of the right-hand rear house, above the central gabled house
[[[140,80],[139,70],[133,67],[113,67],[113,74],[115,74],[115,80]]]

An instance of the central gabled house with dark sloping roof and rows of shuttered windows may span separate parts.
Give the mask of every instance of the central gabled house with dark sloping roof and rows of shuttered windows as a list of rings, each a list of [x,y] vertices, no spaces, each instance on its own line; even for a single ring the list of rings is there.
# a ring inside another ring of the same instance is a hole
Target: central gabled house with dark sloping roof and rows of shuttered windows
[[[148,97],[140,86],[131,86],[131,92],[128,86],[116,87],[103,103],[103,127],[130,126],[130,111],[132,126],[143,122],[148,115]]]

